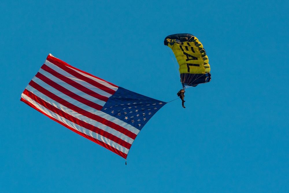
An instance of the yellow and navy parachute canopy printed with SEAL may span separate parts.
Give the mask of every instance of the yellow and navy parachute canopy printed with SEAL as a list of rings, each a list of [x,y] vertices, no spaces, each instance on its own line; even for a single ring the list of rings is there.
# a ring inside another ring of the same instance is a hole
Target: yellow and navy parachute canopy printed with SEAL
[[[184,89],[210,82],[209,59],[198,38],[192,34],[173,34],[164,39],[164,45],[170,47],[175,54]]]

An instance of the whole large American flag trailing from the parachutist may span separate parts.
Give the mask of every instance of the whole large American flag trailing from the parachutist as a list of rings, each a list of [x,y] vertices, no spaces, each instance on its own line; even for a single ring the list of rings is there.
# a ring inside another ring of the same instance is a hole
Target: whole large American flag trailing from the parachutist
[[[51,54],[23,91],[21,101],[125,159],[140,130],[166,104]]]

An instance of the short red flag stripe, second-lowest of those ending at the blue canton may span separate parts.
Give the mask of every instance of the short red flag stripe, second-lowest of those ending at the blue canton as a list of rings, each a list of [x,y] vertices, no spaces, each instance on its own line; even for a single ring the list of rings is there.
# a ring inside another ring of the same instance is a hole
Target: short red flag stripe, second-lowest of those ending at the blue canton
[[[53,76],[59,78],[60,80],[62,80],[63,82],[66,82],[67,84],[70,84],[71,86],[75,87],[76,89],[90,95],[93,96],[95,98],[98,98],[99,100],[102,101],[108,101],[108,97],[105,97],[103,95],[100,95],[88,88],[86,88],[85,86],[79,84],[78,82],[75,82],[74,80],[71,80],[70,78],[67,78],[66,76],[63,76],[62,74],[56,72],[55,70],[53,70],[52,68],[48,67],[47,65],[42,65],[41,69],[51,73]],[[115,91],[114,91],[115,92]]]

